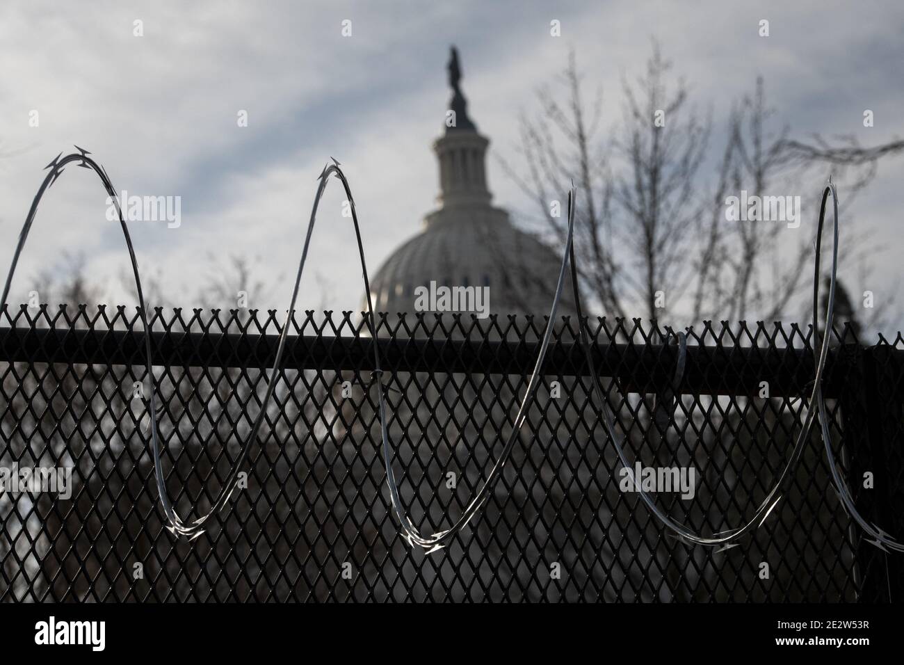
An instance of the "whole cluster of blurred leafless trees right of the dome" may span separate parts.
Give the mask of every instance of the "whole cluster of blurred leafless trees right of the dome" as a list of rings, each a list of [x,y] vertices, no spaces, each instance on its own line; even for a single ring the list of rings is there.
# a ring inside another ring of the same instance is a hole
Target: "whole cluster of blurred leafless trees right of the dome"
[[[701,117],[682,79],[671,82],[672,68],[654,42],[645,73],[623,81],[623,116],[607,140],[600,136],[602,93],[585,104],[572,53],[560,81],[567,103],[558,90],[541,87],[538,115],[521,122],[523,167],[504,162],[504,170],[539,213],[528,220],[541,220],[559,250],[566,220],[551,213],[551,202],[578,185],[575,252],[591,309],[625,318],[639,307],[662,320],[678,316],[676,303],[690,295],[692,321],[786,315],[808,289],[810,236],[783,234],[780,223],[729,222],[726,196],[741,189],[768,195],[780,185],[783,192],[812,190],[802,198],[818,204],[819,188],[810,183],[833,172],[846,183],[847,213],[877,161],[904,151],[904,142],[865,148],[850,137],[839,146],[818,136],[813,144],[794,140],[790,128],[774,126],[758,78],[732,105],[724,144],[711,158],[711,114]],[[702,172],[710,162],[712,177]],[[866,240],[847,242],[845,262],[862,262],[875,249]],[[656,301],[657,291],[664,302]]]

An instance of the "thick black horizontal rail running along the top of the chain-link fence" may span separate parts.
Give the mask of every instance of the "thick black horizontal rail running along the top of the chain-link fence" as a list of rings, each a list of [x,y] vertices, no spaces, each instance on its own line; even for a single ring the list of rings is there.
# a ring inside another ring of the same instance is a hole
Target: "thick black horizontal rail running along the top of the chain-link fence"
[[[152,332],[155,366],[247,367],[273,366],[278,335],[238,333]],[[322,369],[372,371],[373,341],[369,337],[288,337],[282,369]],[[487,339],[378,338],[384,370],[424,372],[443,366],[451,372],[530,374],[540,345],[537,342]],[[57,330],[47,328],[0,328],[0,361],[138,365],[144,361],[145,333],[131,330]],[[667,344],[597,344],[593,347],[595,367],[600,375],[626,381],[631,392],[655,392],[672,381],[678,349]],[[829,352],[824,394],[837,397],[843,392],[845,363],[859,354],[890,354],[904,360],[904,350],[861,347],[856,344],[834,347]],[[767,381],[775,385],[772,394],[799,396],[812,384],[815,370],[813,351],[794,347],[690,346],[684,385],[714,392],[711,394],[756,394]],[[588,375],[589,369],[579,344],[554,345],[542,366],[545,375]]]

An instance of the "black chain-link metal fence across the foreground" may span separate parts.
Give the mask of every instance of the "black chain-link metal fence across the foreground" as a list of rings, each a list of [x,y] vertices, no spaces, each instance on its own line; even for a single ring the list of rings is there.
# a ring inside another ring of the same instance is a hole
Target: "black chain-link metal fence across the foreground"
[[[247,439],[279,320],[276,312],[155,312],[165,477],[184,518],[209,508]],[[460,514],[492,466],[544,325],[384,317],[374,341],[349,313],[298,318],[247,481],[208,532],[187,542],[166,530],[157,500],[145,333],[134,310],[5,310],[0,467],[71,469],[72,483],[70,497],[0,494],[0,599],[902,597],[899,558],[865,542],[834,494],[818,428],[784,500],[741,546],[714,550],[669,537],[622,487],[568,319],[485,507],[446,549],[412,550],[385,487],[371,345],[384,358],[401,498],[430,533]],[[703,533],[749,518],[803,423],[812,331],[706,323],[690,336],[673,394],[677,350],[666,330],[607,320],[593,328],[598,370],[631,454],[645,467],[696,472],[691,498],[660,492],[660,505]],[[900,533],[904,340],[864,347],[845,329],[833,342],[824,388],[833,451],[864,515]]]

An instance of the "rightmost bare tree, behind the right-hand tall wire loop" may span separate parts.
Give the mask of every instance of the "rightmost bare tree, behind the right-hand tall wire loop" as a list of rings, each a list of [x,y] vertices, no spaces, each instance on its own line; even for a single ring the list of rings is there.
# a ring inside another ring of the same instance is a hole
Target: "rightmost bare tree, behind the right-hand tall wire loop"
[[[774,109],[767,107],[761,77],[754,93],[731,110],[711,214],[702,229],[707,244],[696,259],[692,320],[704,316],[742,319],[751,312],[774,320],[788,311],[792,299],[809,288],[805,270],[812,261],[809,234],[788,234],[780,223],[726,223],[724,215],[725,195],[745,190],[762,198],[774,194],[779,184],[785,192],[809,191],[802,196],[805,209],[817,209],[821,188],[808,183],[824,178],[823,161],[828,160],[798,154],[796,146],[801,144],[788,138],[790,129],[771,127],[774,115]],[[849,214],[852,201],[869,183],[874,166],[854,162],[833,162],[832,166],[835,178],[848,183],[842,209]],[[856,257],[867,240],[849,239],[843,257]],[[707,302],[709,306],[705,307]]]

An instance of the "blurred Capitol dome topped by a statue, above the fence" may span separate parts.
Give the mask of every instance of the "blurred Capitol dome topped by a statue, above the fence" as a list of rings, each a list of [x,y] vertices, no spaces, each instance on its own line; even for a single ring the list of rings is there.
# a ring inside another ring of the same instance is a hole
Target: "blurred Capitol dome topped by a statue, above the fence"
[[[373,309],[392,317],[417,311],[445,313],[450,310],[424,307],[438,300],[419,296],[444,286],[469,292],[485,287],[484,316],[487,309],[493,314],[549,314],[561,257],[517,229],[504,210],[492,205],[485,170],[489,140],[467,115],[454,47],[448,71],[453,95],[446,132],[433,144],[439,163],[439,207],[424,218],[420,233],[404,242],[377,271],[371,282]],[[573,314],[573,303],[569,280],[557,317]],[[451,311],[462,313],[462,318],[468,312],[477,313],[465,308]]]

